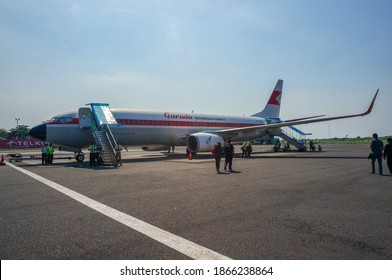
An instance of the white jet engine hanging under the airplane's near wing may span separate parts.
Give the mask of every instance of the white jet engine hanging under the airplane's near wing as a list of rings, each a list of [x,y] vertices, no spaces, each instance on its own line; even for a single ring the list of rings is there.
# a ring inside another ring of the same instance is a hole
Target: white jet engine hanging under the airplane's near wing
[[[189,135],[187,147],[192,153],[209,152],[214,148],[218,142],[224,143],[224,139],[220,135],[199,132]]]

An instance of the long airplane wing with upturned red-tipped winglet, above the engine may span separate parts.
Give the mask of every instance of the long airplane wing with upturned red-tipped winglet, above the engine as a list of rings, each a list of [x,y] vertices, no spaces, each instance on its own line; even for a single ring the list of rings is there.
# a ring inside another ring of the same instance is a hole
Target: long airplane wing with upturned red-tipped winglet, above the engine
[[[277,123],[273,123],[273,124],[264,124],[264,125],[250,126],[250,127],[223,129],[223,130],[216,131],[215,133],[222,135],[224,138],[232,138],[232,137],[239,135],[239,134],[255,133],[259,130],[273,131],[274,129],[286,127],[286,126],[291,126],[291,125],[300,125],[300,124],[308,124],[308,123],[316,123],[316,122],[326,122],[326,121],[332,121],[332,120],[338,120],[338,119],[363,117],[363,116],[370,114],[370,112],[372,111],[377,95],[378,95],[378,89],[377,89],[376,94],[374,95],[373,100],[370,103],[367,111],[364,113],[360,113],[360,114],[337,116],[337,117],[327,117],[327,118],[307,117],[307,118],[295,119],[295,120],[290,120],[290,121],[285,121],[285,122],[277,122]]]

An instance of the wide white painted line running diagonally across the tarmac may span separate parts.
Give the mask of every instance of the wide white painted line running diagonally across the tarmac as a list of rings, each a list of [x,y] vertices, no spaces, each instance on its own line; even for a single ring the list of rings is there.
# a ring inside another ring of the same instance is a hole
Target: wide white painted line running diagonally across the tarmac
[[[94,209],[95,211],[102,213],[103,215],[119,222],[127,227],[134,229],[192,259],[196,260],[230,260],[230,258],[214,252],[206,247],[193,243],[185,238],[172,234],[168,231],[160,229],[156,226],[148,224],[142,220],[132,217],[128,214],[120,212],[114,208],[111,208],[105,204],[95,201],[87,196],[84,196],[78,192],[70,190],[60,184],[50,181],[42,176],[39,176],[33,172],[27,171],[23,168],[15,166],[11,163],[7,163],[8,166],[30,176],[31,178],[69,196],[70,198]]]

